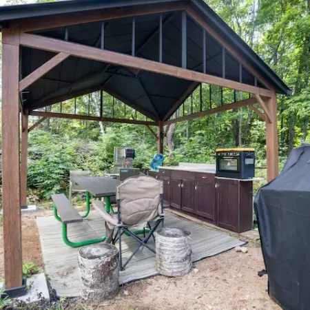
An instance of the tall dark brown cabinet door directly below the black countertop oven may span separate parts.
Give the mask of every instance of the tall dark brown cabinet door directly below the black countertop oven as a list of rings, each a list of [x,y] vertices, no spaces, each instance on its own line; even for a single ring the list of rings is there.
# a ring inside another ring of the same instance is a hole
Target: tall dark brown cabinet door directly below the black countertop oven
[[[231,231],[239,229],[239,185],[237,180],[217,180],[216,203],[218,226]]]

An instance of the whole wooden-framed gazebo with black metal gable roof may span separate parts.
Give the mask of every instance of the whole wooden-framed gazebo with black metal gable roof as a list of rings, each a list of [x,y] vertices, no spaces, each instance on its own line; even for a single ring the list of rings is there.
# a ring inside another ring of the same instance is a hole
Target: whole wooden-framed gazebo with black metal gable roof
[[[28,132],[45,118],[151,125],[248,106],[266,122],[267,178],[278,176],[277,93],[281,79],[203,0],[76,0],[0,8],[2,176],[6,288],[22,284],[21,205],[26,204]],[[172,118],[202,83],[249,94]],[[97,116],[44,107],[101,93]],[[103,116],[102,92],[149,120]],[[254,105],[254,104],[258,105]],[[28,128],[28,116],[41,116]],[[21,143],[20,143],[21,117]]]

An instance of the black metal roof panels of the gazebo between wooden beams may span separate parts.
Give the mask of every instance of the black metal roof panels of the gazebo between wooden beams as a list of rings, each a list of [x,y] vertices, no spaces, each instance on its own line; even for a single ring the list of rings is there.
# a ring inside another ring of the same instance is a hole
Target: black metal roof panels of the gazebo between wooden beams
[[[173,0],[171,0],[173,1]],[[11,19],[31,18],[43,15],[76,12],[78,10],[93,10],[121,6],[134,6],[159,2],[163,0],[75,0],[54,3],[36,3],[23,6],[0,8],[0,21]],[[280,94],[289,94],[289,88],[281,79],[260,59],[249,46],[231,30],[225,22],[214,13],[209,6],[200,0],[189,0],[209,25],[245,57],[247,62],[265,76]],[[21,10],[21,8],[23,10]],[[156,14],[136,17],[136,56],[158,61],[158,20]],[[36,34],[55,39],[65,38],[64,28],[40,30]],[[203,31],[191,18],[187,17],[187,68],[203,72]],[[101,38],[101,22],[84,23],[68,27],[68,41],[90,45],[99,48]],[[222,47],[207,34],[207,74],[222,75]],[[181,66],[181,13],[163,14],[163,63]],[[132,53],[132,18],[107,21],[105,23],[105,49],[123,54]],[[21,49],[21,76],[39,68],[54,56],[51,52]],[[226,78],[239,80],[238,62],[228,52],[226,55]],[[63,63],[45,74],[43,78],[32,84],[23,93],[23,104],[34,109],[54,99],[81,94],[83,91],[103,89],[118,94],[131,103],[132,107],[145,112],[154,120],[163,119],[171,107],[183,96],[192,81],[177,79],[171,76],[152,72],[136,72],[107,63],[70,56]],[[254,85],[254,76],[247,70],[242,70],[242,83]],[[259,87],[264,87],[258,81]]]

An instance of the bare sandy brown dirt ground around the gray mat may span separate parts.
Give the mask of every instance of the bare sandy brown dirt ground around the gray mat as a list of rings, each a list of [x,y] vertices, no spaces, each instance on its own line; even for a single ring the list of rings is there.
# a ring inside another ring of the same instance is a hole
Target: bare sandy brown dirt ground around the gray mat
[[[35,216],[22,216],[22,225],[23,260],[43,267]],[[2,242],[1,231],[1,257]],[[75,299],[68,302],[67,309],[280,310],[267,294],[267,276],[260,278],[257,274],[264,269],[260,247],[253,243],[247,247],[247,254],[231,250],[197,262],[182,278],[157,276],[126,285],[114,303],[105,307]],[[0,277],[3,277],[3,259]]]

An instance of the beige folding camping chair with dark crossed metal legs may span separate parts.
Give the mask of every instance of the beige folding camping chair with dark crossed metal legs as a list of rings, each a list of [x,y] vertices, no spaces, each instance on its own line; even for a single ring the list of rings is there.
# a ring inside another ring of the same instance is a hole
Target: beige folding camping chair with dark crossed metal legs
[[[116,202],[118,213],[105,212],[103,217],[106,220],[107,242],[115,245],[118,241],[120,269],[123,270],[141,247],[147,247],[155,253],[155,249],[149,247],[147,241],[151,237],[155,240],[154,232],[159,224],[163,224],[163,182],[145,175],[127,178],[116,188]],[[149,231],[145,234],[146,227]],[[115,228],[117,231],[114,236]],[[143,231],[132,231],[139,228],[143,228]],[[123,264],[121,241],[124,233],[137,240],[139,245]],[[137,234],[143,234],[143,238]]]

